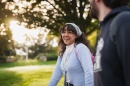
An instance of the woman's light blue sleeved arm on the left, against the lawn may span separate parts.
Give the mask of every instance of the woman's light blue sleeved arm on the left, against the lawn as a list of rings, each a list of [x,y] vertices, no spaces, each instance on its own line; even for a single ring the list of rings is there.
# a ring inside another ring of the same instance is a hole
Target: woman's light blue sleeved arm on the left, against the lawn
[[[57,83],[59,82],[59,80],[61,79],[62,71],[60,68],[60,64],[61,64],[61,58],[58,57],[55,69],[52,73],[52,76],[51,76],[51,79],[50,79],[48,86],[56,86]]]

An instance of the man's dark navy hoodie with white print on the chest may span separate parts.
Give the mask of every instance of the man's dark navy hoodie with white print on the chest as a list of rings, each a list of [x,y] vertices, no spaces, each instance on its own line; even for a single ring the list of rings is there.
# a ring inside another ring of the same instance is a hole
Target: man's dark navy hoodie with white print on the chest
[[[110,25],[119,13],[129,11],[118,18],[115,26],[116,43],[110,39]],[[130,8],[113,9],[100,23],[95,64],[95,86],[130,86]]]

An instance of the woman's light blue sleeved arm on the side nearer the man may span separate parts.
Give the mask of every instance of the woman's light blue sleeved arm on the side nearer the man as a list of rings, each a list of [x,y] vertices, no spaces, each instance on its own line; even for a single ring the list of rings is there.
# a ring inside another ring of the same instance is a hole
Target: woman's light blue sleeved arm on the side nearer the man
[[[91,60],[91,53],[89,49],[83,45],[78,48],[78,58],[83,67],[84,75],[85,75],[85,86],[93,86],[93,63]]]

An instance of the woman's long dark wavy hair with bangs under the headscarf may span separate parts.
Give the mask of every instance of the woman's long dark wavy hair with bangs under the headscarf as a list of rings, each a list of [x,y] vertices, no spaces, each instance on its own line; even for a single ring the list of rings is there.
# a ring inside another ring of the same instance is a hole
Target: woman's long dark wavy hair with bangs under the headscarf
[[[71,25],[71,24],[65,24],[60,30],[59,32],[62,33],[65,31],[65,27],[67,27],[67,30],[68,31],[72,31],[75,35],[77,35],[77,31],[76,29]],[[84,45],[88,46],[88,42],[87,40],[85,39],[85,35],[84,33],[82,32],[82,34],[80,36],[78,36],[76,39],[75,39],[75,46],[79,43],[83,43]],[[59,56],[62,57],[63,53],[65,52],[65,49],[66,49],[66,44],[64,43],[63,39],[62,39],[62,36],[60,35],[60,40],[59,40]]]

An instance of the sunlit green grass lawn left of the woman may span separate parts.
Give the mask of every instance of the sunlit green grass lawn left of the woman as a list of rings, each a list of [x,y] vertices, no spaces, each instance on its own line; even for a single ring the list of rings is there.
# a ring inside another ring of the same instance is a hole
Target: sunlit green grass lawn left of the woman
[[[47,86],[56,61],[0,63],[0,86]],[[63,77],[57,86],[63,86]]]

